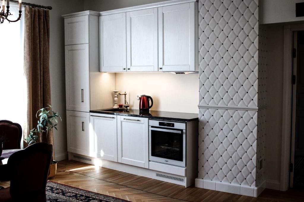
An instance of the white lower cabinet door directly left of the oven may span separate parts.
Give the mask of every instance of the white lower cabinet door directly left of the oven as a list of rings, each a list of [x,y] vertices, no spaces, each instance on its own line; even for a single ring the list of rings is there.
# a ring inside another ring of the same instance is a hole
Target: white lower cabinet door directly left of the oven
[[[117,124],[118,162],[148,168],[148,119],[117,116]]]

